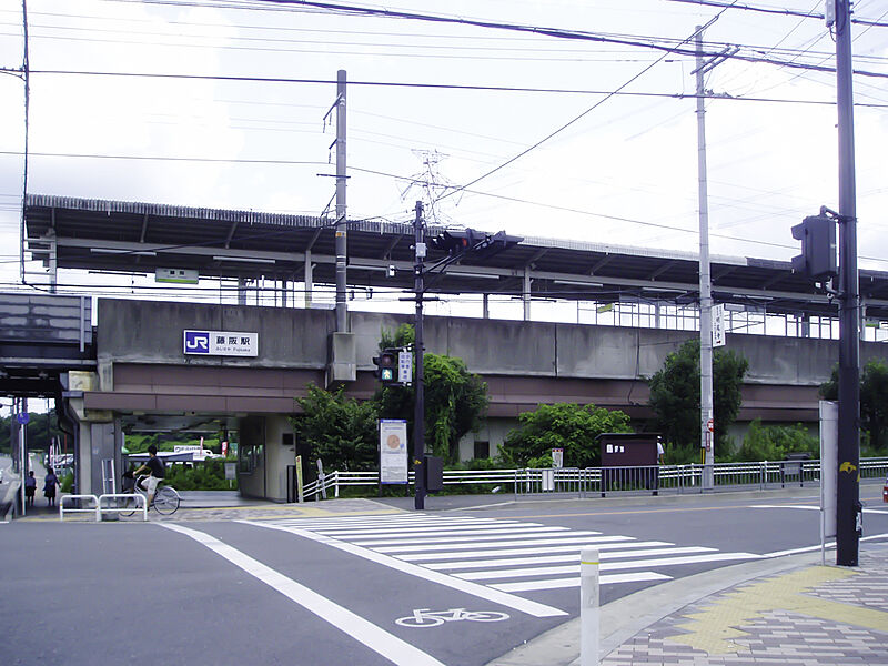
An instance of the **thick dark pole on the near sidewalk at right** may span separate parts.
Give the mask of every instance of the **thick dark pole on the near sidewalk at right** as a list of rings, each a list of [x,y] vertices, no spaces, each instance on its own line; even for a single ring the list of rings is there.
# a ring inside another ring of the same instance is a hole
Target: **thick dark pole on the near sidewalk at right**
[[[836,3],[839,134],[839,445],[836,564],[857,566],[860,539],[860,314],[854,164],[850,0]]]

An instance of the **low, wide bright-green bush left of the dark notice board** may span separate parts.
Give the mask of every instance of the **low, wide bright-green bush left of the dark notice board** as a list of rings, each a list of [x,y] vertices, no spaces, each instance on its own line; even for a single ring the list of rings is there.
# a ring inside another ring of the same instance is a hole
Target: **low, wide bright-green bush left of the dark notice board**
[[[512,467],[551,465],[552,458],[545,456],[553,448],[564,450],[564,464],[568,467],[595,467],[602,461],[595,437],[632,432],[625,413],[592,404],[538,405],[534,412],[519,414],[518,421],[521,425],[500,446],[500,456]]]

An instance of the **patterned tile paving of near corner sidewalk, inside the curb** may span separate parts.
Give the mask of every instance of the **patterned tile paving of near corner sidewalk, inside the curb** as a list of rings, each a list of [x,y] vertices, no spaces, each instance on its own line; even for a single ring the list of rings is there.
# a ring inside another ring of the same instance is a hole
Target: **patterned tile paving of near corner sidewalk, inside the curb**
[[[888,665],[888,553],[729,588],[663,618],[602,666]]]

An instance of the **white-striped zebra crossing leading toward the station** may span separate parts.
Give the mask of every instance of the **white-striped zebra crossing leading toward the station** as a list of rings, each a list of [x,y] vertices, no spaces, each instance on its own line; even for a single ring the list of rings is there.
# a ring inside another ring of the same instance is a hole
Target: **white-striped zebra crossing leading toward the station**
[[[477,516],[383,515],[250,522],[313,538],[374,562],[502,593],[579,586],[579,551],[598,548],[602,585],[666,581],[665,567],[760,558],[707,546]]]

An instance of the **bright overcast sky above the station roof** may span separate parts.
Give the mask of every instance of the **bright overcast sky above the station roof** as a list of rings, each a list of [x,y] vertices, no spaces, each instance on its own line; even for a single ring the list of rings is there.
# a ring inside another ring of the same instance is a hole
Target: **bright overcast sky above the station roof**
[[[743,4],[823,11],[814,0]],[[465,185],[582,115],[445,198],[440,221],[696,252],[695,100],[679,97],[694,92],[694,58],[650,44],[690,49],[695,26],[718,17],[707,51],[736,44],[775,62],[731,59],[707,74],[719,95],[706,103],[712,252],[789,259],[790,228],[823,204],[838,208],[835,73],[790,67],[834,65],[820,19],[675,0],[385,8],[627,43],[266,1],[29,0],[29,191],[320,214],[334,191],[319,175],[334,173],[335,125],[322,119],[346,70],[350,218],[407,221],[423,196],[408,179],[425,178],[430,154],[435,182]],[[888,0],[860,0],[855,16],[888,23]],[[2,3],[0,26],[0,67],[19,68],[19,0]],[[856,69],[881,74],[854,81],[860,265],[888,271],[888,28],[857,23],[852,34]],[[23,108],[22,81],[0,75],[4,289],[19,280]],[[69,272],[62,285],[83,281]]]

